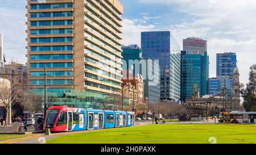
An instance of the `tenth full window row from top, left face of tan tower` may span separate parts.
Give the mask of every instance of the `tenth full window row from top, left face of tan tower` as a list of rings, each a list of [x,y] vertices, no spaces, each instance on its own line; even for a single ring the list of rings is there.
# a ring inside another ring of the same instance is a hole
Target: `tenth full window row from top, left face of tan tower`
[[[72,79],[48,79],[47,85],[73,85]],[[31,80],[30,85],[44,85],[44,80]]]

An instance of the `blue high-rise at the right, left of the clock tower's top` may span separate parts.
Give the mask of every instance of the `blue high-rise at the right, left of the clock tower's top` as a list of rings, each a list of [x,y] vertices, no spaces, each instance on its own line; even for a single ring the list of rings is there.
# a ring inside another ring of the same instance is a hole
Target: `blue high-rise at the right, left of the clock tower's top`
[[[217,53],[217,76],[229,76],[233,78],[233,70],[237,66],[236,53]]]

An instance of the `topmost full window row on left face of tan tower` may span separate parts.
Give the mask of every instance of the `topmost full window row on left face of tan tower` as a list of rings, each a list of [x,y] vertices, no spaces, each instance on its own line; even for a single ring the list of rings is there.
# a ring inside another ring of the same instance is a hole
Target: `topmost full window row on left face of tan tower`
[[[36,0],[32,0],[36,1]],[[30,5],[31,9],[63,9],[63,8],[73,8],[72,3],[54,3],[54,4],[36,4]]]

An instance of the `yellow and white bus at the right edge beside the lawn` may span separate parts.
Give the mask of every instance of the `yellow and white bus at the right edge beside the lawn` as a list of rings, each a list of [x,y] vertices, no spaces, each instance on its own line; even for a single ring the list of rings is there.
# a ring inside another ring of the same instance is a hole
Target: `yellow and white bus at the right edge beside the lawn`
[[[256,112],[224,112],[224,123],[256,123]]]

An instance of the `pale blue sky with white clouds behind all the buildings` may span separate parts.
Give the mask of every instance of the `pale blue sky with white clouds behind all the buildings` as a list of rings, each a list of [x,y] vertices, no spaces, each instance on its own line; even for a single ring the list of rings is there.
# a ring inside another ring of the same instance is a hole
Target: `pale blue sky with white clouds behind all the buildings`
[[[256,64],[255,0],[119,0],[123,5],[123,44],[141,45],[142,31],[171,31],[182,49],[187,37],[208,40],[210,77],[216,53],[237,53],[240,82]],[[26,0],[0,0],[0,33],[7,62],[26,62]],[[15,5],[14,5],[15,4]]]

